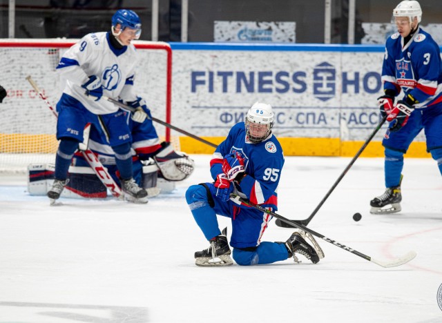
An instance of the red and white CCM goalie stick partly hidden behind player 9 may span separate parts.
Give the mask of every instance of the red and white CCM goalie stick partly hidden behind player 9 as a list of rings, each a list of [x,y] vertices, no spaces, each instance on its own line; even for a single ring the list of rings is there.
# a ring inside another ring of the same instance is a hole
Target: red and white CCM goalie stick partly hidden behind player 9
[[[35,81],[30,77],[26,77],[26,80],[30,83],[32,88],[34,88],[35,92],[39,95],[39,97],[46,102],[48,108],[52,111],[52,114],[55,115],[56,118],[58,118],[57,111],[52,107],[52,104],[48,101],[48,98],[41,92]],[[122,195],[122,191],[119,189],[119,186],[111,175],[109,175],[106,168],[103,166],[103,164],[98,160],[97,156],[93,153],[90,149],[80,149],[81,155],[83,155],[84,159],[88,162],[90,168],[92,168],[99,178],[99,180],[108,188],[108,190],[111,191],[112,195],[115,197],[119,197],[119,195]]]

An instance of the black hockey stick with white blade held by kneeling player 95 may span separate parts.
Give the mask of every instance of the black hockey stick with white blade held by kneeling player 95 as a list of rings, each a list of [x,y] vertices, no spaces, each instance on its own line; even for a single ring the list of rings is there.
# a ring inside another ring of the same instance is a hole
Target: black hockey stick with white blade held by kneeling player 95
[[[320,233],[317,233],[316,231],[311,230],[311,228],[307,228],[307,226],[303,226],[302,224],[298,224],[296,222],[293,222],[289,219],[286,219],[285,217],[282,217],[282,215],[278,215],[267,208],[264,208],[258,204],[254,204],[253,202],[250,202],[248,199],[244,199],[240,197],[239,195],[236,195],[235,193],[231,193],[230,200],[235,202],[236,204],[246,204],[247,206],[251,206],[252,208],[256,208],[258,211],[267,213],[271,215],[272,217],[276,217],[276,219],[280,219],[283,222],[286,222],[287,224],[291,224],[295,228],[298,228],[302,231],[308,232],[311,235],[314,235],[320,239],[323,239],[324,241],[328,242],[329,244],[334,244],[335,246],[338,246],[339,248],[348,251],[349,253],[353,253],[354,255],[357,255],[365,260],[368,260],[369,262],[374,262],[374,264],[377,264],[379,266],[382,266],[384,268],[390,268],[390,267],[396,267],[401,266],[403,264],[406,264],[407,262],[410,262],[410,260],[413,260],[414,257],[416,257],[415,251],[409,251],[407,254],[403,255],[402,257],[398,257],[390,262],[385,262],[381,260],[376,260],[373,257],[364,255],[363,253],[360,253],[357,250],[354,250],[353,248],[350,248],[349,246],[345,246],[344,244],[340,244],[336,240],[330,239],[328,237],[325,237],[325,235],[321,235]]]

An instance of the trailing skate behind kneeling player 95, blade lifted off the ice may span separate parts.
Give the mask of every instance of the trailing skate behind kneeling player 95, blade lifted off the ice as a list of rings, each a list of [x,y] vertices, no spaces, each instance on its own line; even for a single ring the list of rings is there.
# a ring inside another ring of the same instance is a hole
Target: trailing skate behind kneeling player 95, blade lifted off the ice
[[[311,241],[313,246],[305,241],[306,237]],[[297,263],[300,263],[300,260],[296,257],[296,253],[303,255],[314,264],[317,264],[319,260],[324,257],[323,249],[320,248],[318,242],[316,242],[310,233],[305,233],[304,231],[294,232],[285,242],[285,246],[287,247],[287,251],[289,251],[289,258],[293,257],[294,262]]]

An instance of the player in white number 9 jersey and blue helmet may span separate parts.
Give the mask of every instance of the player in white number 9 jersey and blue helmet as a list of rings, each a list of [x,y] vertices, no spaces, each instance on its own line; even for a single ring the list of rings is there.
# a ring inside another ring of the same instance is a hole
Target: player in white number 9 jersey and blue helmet
[[[106,133],[126,199],[147,203],[146,190],[133,179],[127,112],[104,97],[122,99],[135,108],[133,121],[142,123],[146,119],[143,101],[133,90],[137,57],[131,41],[138,39],[140,33],[140,17],[132,10],[118,10],[112,17],[111,32],[86,35],[61,58],[57,71],[66,79],[66,87],[57,103],[60,144],[55,159],[55,181],[48,192],[52,202],[66,186],[70,161],[83,141],[84,126],[90,123]]]

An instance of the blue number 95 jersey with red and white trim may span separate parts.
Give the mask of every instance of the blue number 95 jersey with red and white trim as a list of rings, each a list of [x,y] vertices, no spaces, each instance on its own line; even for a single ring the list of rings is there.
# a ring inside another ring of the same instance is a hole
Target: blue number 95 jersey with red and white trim
[[[222,173],[222,159],[230,153],[239,153],[244,158],[246,175],[240,182],[242,193],[255,204],[277,210],[278,183],[284,166],[278,139],[271,134],[259,144],[252,144],[247,140],[244,122],[236,124],[213,153],[211,175],[214,180]]]

